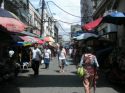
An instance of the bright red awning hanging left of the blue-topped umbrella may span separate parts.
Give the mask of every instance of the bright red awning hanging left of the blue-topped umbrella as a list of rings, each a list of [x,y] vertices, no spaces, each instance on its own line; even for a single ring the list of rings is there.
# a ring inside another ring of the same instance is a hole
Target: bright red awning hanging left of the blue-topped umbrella
[[[101,23],[102,19],[103,19],[103,17],[100,17],[100,18],[98,18],[90,23],[87,23],[87,24],[82,26],[82,29],[87,30],[87,31],[91,31]]]

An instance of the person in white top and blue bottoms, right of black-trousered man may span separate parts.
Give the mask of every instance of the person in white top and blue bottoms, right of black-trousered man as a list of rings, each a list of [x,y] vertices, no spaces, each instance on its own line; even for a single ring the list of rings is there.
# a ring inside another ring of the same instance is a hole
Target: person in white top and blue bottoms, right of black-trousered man
[[[51,50],[49,49],[49,46],[46,46],[44,49],[45,69],[49,69],[50,60],[51,60]]]

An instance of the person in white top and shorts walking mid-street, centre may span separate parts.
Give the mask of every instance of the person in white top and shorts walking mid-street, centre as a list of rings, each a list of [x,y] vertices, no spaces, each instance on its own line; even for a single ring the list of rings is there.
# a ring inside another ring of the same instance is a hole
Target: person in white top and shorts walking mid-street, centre
[[[59,49],[59,72],[64,72],[64,66],[65,66],[65,60],[66,60],[66,50],[63,48],[63,46],[60,46]]]

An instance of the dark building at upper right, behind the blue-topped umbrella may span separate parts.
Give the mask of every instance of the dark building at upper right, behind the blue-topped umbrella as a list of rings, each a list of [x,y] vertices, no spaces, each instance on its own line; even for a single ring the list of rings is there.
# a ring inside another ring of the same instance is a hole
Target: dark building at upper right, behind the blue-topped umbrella
[[[94,0],[96,4],[96,10],[93,14],[93,18],[99,18],[106,15],[110,11],[125,11],[125,0]],[[101,24],[98,27],[100,35],[107,37],[108,39],[117,43],[118,46],[123,47],[125,45],[125,26],[124,25],[114,25],[114,24]],[[111,32],[116,32],[112,33]],[[105,35],[106,34],[106,35]]]

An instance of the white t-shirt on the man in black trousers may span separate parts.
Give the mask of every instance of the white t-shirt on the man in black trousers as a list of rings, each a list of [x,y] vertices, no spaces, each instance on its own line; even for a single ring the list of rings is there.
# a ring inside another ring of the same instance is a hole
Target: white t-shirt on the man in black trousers
[[[41,60],[41,51],[39,48],[36,48],[36,49],[32,49],[32,59],[33,60],[36,60],[36,61],[40,61]]]

